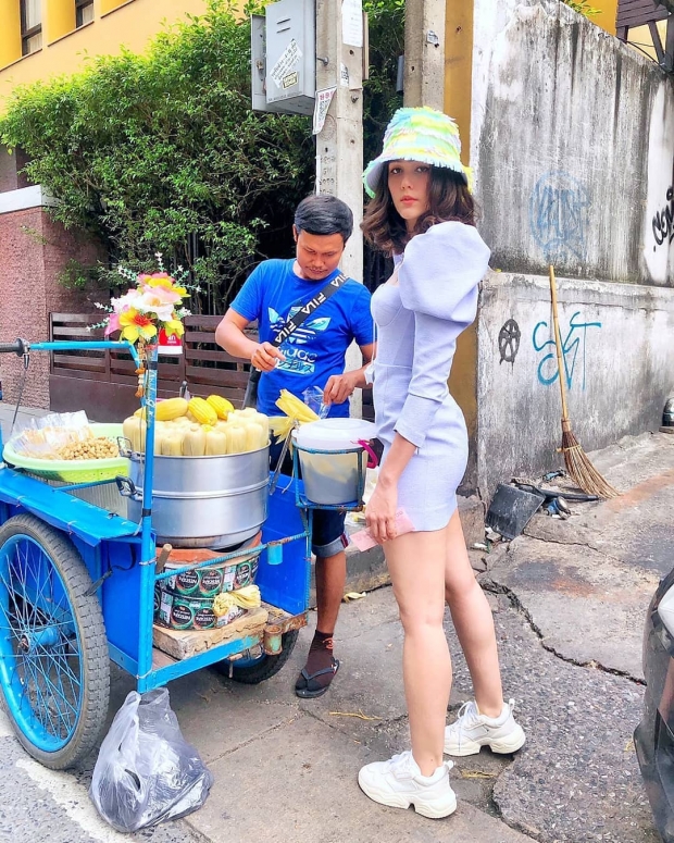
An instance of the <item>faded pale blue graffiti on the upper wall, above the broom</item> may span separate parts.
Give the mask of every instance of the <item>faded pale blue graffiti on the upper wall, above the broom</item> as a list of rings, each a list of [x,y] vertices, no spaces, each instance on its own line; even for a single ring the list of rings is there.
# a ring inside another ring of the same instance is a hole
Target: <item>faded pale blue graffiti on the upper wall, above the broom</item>
[[[529,197],[529,227],[546,259],[582,259],[589,196],[585,186],[563,170],[538,179]]]

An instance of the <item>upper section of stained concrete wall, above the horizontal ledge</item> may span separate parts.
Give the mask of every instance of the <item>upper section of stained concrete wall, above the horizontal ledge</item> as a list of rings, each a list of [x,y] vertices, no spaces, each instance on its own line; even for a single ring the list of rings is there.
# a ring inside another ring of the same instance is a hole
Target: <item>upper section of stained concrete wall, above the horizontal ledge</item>
[[[671,284],[652,216],[672,185],[672,79],[563,3],[476,2],[472,160],[492,265]]]

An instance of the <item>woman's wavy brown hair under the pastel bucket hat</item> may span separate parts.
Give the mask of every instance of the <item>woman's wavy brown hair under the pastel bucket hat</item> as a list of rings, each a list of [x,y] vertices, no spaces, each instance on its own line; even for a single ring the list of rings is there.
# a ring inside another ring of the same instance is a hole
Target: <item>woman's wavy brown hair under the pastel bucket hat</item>
[[[390,256],[400,253],[415,234],[427,232],[436,223],[457,221],[475,225],[475,201],[462,176],[444,166],[430,168],[428,210],[416,221],[412,234],[396,210],[388,189],[388,164],[380,168],[374,198],[363,214],[361,228],[366,240]]]

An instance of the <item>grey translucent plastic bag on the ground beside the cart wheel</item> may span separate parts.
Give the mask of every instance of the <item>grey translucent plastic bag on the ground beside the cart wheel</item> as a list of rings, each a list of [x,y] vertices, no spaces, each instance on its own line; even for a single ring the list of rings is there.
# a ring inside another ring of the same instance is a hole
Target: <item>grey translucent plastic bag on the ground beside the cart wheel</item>
[[[117,831],[200,808],[213,776],[180,733],[165,687],[126,697],[101,744],[89,795]]]

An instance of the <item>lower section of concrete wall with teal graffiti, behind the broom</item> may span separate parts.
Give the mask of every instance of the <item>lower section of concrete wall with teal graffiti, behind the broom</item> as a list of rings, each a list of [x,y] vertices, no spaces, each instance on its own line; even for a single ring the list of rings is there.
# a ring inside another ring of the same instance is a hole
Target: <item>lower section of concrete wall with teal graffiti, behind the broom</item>
[[[661,423],[674,387],[674,297],[636,284],[558,278],[573,430],[586,451]],[[563,466],[550,288],[540,275],[492,272],[478,323],[477,471],[499,481]]]

